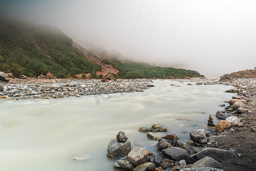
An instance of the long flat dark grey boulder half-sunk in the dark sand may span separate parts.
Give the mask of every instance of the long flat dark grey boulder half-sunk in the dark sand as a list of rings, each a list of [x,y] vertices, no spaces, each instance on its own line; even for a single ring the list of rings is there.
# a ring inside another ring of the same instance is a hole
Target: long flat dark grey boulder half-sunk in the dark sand
[[[221,161],[228,158],[237,157],[237,154],[231,150],[218,149],[218,148],[204,148],[201,152],[196,154],[197,160],[201,160],[204,157],[212,157],[217,161]]]

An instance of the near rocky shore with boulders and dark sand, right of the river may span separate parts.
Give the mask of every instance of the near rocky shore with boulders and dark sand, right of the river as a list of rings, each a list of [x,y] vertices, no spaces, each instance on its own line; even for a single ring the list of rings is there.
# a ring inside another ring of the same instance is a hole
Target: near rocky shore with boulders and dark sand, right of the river
[[[256,170],[255,79],[198,81],[200,81],[196,83],[198,86],[202,84],[234,86],[226,92],[237,95],[224,101],[224,104],[221,104],[223,110],[216,112],[220,122],[214,127],[212,116],[209,116],[210,127],[206,131],[205,129],[191,131],[190,140],[185,143],[178,142],[176,135],[166,133],[168,130],[161,124],[153,124],[151,128],[139,128],[140,132],[145,132],[145,136],[156,140],[155,146],[159,150],[156,154],[141,147],[131,148],[128,139],[124,142],[113,139],[108,145],[107,156],[112,157],[109,153],[114,153],[115,157],[112,158],[123,157],[114,162],[114,168],[154,171]],[[156,132],[165,134],[159,136]],[[117,137],[120,136],[119,134]]]

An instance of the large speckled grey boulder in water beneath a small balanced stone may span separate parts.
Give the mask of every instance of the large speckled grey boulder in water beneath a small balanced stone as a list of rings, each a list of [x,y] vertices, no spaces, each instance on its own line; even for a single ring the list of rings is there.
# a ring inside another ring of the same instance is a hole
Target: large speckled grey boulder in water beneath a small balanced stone
[[[117,139],[112,139],[108,144],[107,156],[111,158],[118,158],[127,156],[131,151],[131,143],[129,140],[120,143]]]

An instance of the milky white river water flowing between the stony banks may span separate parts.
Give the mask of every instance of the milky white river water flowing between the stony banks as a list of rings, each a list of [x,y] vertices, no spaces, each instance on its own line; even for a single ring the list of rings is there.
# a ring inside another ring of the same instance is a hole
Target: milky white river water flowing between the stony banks
[[[210,114],[217,123],[215,113],[223,109],[219,105],[234,95],[225,93],[230,87],[222,85],[187,86],[170,80],[153,84],[156,87],[136,93],[1,100],[0,170],[113,170],[114,160],[106,151],[119,131],[132,146],[145,147],[156,141],[137,130],[160,123],[185,142],[190,131],[207,129]]]

